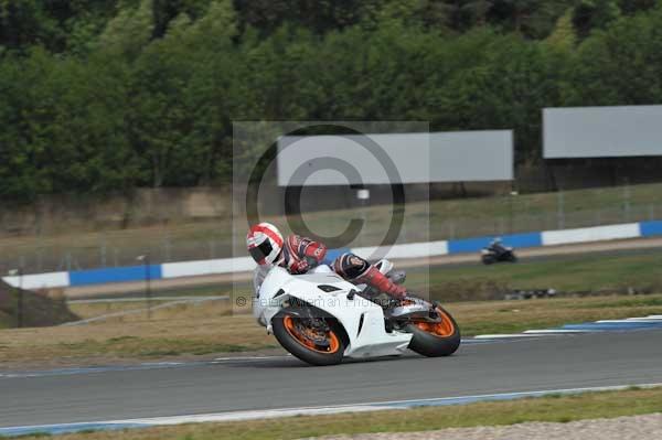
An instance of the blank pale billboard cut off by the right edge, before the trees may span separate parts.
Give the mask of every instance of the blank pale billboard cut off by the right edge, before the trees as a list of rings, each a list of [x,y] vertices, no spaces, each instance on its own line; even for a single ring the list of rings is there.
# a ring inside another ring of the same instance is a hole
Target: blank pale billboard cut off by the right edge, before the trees
[[[543,110],[545,159],[662,155],[662,106]]]

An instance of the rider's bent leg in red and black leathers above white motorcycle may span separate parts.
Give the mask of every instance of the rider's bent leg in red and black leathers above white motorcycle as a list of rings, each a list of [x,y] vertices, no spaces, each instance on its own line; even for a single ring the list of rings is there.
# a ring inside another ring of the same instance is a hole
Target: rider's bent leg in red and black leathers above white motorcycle
[[[402,299],[407,290],[395,285],[376,267],[354,254],[343,254],[333,261],[333,270],[354,283],[366,283],[393,298]]]

